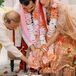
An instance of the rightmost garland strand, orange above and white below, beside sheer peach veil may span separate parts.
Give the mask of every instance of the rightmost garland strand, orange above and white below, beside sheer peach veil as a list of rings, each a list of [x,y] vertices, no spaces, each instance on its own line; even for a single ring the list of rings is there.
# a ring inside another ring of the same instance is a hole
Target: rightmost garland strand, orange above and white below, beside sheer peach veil
[[[57,26],[57,20],[58,20],[58,7],[57,7],[57,3],[53,3],[53,5],[50,8],[50,22],[49,22],[49,26],[48,26],[48,33],[47,33],[47,37],[51,37],[53,35],[53,33],[55,32],[55,27]]]

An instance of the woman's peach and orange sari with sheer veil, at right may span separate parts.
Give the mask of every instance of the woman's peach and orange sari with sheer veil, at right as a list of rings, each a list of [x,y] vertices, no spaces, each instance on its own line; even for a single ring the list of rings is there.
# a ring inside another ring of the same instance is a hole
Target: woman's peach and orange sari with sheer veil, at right
[[[57,59],[55,62],[51,62],[51,68],[54,72],[66,64],[73,66],[74,63],[73,59],[76,56],[76,11],[74,7],[58,4],[59,17],[56,30],[59,32],[59,35],[54,46]]]

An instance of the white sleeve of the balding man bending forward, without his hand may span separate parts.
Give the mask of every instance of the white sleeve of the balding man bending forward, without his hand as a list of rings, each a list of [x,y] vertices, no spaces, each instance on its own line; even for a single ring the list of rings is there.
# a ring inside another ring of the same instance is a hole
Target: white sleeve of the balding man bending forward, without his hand
[[[0,11],[2,12],[1,8]],[[8,36],[7,28],[5,27],[2,19],[2,13],[0,13],[0,43],[5,47],[7,51],[10,51],[14,56],[21,57],[22,53],[14,46]]]

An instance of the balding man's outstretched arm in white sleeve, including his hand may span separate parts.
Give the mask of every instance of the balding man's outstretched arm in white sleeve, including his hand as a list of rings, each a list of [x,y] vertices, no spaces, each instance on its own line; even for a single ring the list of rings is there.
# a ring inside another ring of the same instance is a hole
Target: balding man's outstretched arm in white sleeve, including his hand
[[[3,25],[0,25],[1,27]],[[23,61],[26,62],[25,56],[14,46],[13,42],[9,39],[6,34],[6,29],[0,27],[0,43],[5,47],[7,51],[10,51],[15,57],[20,57]]]

